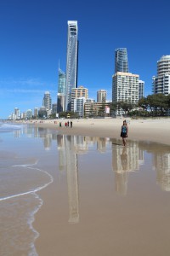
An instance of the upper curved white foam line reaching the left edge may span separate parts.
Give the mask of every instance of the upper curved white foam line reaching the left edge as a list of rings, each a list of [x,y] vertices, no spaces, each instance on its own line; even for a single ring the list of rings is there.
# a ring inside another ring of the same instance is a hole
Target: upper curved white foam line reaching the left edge
[[[37,164],[37,162],[35,164],[33,164],[32,166],[34,166],[36,164]],[[12,167],[16,167],[16,166],[21,166],[21,167],[24,167],[24,168],[27,168],[27,169],[32,169],[32,170],[37,170],[39,172],[43,172],[43,173],[48,175],[50,181],[48,183],[45,183],[41,187],[37,187],[37,189],[34,189],[34,190],[26,191],[26,192],[23,192],[23,193],[20,193],[20,194],[17,194],[17,195],[9,195],[9,196],[5,196],[5,197],[0,197],[0,201],[5,201],[5,200],[12,199],[14,197],[19,197],[19,196],[22,196],[22,195],[36,194],[37,191],[45,189],[50,183],[54,182],[54,177],[51,174],[49,174],[48,172],[43,171],[43,170],[41,170],[39,168],[34,168],[34,167],[31,167],[30,165],[14,165]]]

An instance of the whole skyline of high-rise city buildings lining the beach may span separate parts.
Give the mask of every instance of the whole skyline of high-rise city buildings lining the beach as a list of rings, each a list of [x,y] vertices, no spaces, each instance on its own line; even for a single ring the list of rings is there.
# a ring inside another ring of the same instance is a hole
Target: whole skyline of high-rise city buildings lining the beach
[[[88,98],[88,88],[77,85],[78,77],[78,26],[77,20],[68,20],[67,53],[65,72],[59,67],[58,90],[56,102],[52,103],[49,91],[45,91],[42,98],[42,107],[28,109],[20,113],[14,108],[14,113],[9,119],[48,118],[53,114],[59,118],[63,112],[77,113],[78,117],[90,117],[103,109],[105,116],[122,115],[122,109],[111,113],[111,104],[114,102],[130,102],[138,104],[144,97],[144,81],[139,79],[139,74],[129,72],[127,49],[115,49],[115,71],[112,75],[112,99],[108,101],[107,90],[97,90],[97,101]],[[157,61],[157,75],[152,78],[153,94],[170,94],[170,55],[163,55]]]

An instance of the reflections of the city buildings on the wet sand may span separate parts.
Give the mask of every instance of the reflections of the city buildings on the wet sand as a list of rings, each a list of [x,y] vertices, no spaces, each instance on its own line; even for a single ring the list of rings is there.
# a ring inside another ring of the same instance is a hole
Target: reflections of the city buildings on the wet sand
[[[21,131],[15,137],[20,137]],[[144,165],[144,152],[152,159],[152,168],[156,171],[156,183],[162,190],[170,191],[170,147],[156,143],[128,140],[122,146],[121,139],[62,135],[50,129],[26,126],[28,137],[42,138],[44,148],[49,150],[53,140],[57,143],[59,154],[59,172],[66,172],[69,201],[69,223],[79,222],[78,154],[87,154],[94,148],[100,154],[111,151],[116,192],[127,195],[127,183],[131,172],[139,171]]]

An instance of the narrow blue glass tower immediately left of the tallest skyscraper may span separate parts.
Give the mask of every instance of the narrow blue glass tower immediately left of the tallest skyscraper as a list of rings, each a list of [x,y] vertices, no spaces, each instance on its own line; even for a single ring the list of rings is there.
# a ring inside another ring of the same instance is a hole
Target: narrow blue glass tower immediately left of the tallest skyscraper
[[[59,68],[57,113],[65,111],[66,74]]]

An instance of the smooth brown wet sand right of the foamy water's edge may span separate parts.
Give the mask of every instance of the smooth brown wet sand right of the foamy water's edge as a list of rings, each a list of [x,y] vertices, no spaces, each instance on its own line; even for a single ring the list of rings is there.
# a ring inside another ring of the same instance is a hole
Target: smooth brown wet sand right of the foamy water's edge
[[[44,200],[34,224],[39,255],[170,252],[170,148],[130,143],[123,152],[119,143],[113,140],[108,152],[65,151],[65,169],[39,193]]]

